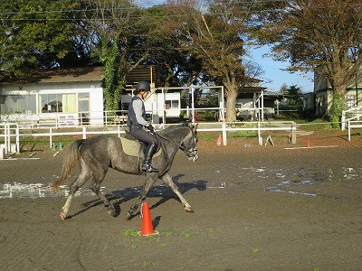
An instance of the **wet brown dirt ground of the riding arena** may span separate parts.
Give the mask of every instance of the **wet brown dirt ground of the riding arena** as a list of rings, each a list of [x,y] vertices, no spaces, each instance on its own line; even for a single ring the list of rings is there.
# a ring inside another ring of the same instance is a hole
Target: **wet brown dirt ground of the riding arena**
[[[64,221],[64,195],[2,198],[0,269],[361,270],[362,139],[346,138],[200,141],[199,160],[179,152],[170,172],[195,212],[157,182],[147,199],[159,233],[152,238],[138,236],[139,213],[126,219],[143,177],[107,174],[103,191],[120,211],[115,218],[87,187]],[[40,159],[0,161],[0,189],[55,180],[64,152],[36,153]]]

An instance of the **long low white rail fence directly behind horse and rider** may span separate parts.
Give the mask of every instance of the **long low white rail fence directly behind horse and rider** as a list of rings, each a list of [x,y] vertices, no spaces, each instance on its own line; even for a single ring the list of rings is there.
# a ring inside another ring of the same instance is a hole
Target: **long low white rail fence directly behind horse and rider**
[[[175,124],[176,125],[176,124]],[[65,129],[53,127],[43,127],[43,128],[22,128],[17,124],[0,124],[3,126],[3,134],[0,134],[1,137],[4,137],[5,141],[5,153],[11,153],[11,142],[15,142],[16,152],[20,152],[20,138],[21,137],[39,137],[45,136],[49,137],[49,147],[52,148],[54,143],[54,137],[62,135],[81,135],[83,139],[87,138],[89,135],[118,135],[126,133],[126,125],[111,125],[111,126],[81,126],[81,127],[70,127]],[[164,129],[166,126],[173,125],[155,125],[157,130]],[[246,126],[246,127],[245,127]],[[197,130],[199,132],[221,132],[223,134],[223,145],[227,145],[227,133],[232,133],[236,131],[255,131],[258,135],[258,143],[262,145],[262,132],[265,131],[287,131],[290,132],[291,143],[296,143],[296,125],[294,122],[205,122],[198,123]],[[59,141],[59,140],[57,140]]]

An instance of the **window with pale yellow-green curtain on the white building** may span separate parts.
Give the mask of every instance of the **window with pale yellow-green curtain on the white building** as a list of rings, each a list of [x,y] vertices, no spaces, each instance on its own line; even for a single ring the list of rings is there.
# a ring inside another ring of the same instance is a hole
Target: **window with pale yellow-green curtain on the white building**
[[[42,94],[39,96],[41,113],[75,113],[75,94]]]

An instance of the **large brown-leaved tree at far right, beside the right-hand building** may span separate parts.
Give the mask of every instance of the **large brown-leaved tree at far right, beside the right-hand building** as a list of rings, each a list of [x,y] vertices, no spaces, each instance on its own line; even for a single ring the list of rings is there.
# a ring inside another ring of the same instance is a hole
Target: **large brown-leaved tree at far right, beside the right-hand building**
[[[294,0],[263,4],[262,9],[256,36],[273,43],[277,60],[291,61],[289,70],[314,70],[329,79],[338,108],[332,114],[340,116],[345,91],[362,63],[362,5],[356,0]]]

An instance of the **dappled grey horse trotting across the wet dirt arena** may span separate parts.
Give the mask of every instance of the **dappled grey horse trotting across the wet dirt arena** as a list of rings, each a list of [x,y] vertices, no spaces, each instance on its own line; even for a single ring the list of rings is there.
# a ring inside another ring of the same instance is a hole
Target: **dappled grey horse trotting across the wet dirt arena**
[[[157,173],[143,173],[141,170],[142,158],[126,154],[119,137],[110,135],[96,135],[87,139],[79,139],[71,144],[62,162],[61,177],[52,182],[51,186],[55,192],[60,192],[62,185],[73,172],[75,166],[80,166],[80,173],[70,185],[67,200],[62,207],[61,220],[66,220],[71,207],[71,199],[81,186],[90,180],[90,190],[94,192],[107,207],[110,215],[115,216],[113,204],[100,191],[100,183],[103,181],[109,168],[113,168],[121,173],[146,174],[146,182],[139,194],[138,201],[129,209],[127,219],[133,217],[135,210],[146,199],[149,189],[157,181],[162,180],[176,193],[176,196],[183,204],[187,212],[194,212],[190,204],[186,201],[176,184],[168,173],[176,152],[181,149],[188,156],[188,159],[195,162],[198,159],[196,126],[178,125],[167,127],[155,133],[160,141],[162,153],[154,156],[152,164],[157,168]]]

